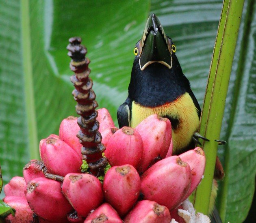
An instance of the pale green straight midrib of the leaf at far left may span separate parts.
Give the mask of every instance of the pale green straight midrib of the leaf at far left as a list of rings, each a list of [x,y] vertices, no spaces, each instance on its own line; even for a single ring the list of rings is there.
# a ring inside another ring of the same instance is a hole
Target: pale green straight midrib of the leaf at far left
[[[28,125],[28,147],[30,159],[39,159],[38,139],[37,139],[37,120],[35,115],[35,99],[33,90],[33,73],[31,58],[31,39],[29,24],[29,2],[22,0],[21,4],[21,23],[22,23],[22,56],[24,72],[24,95]]]

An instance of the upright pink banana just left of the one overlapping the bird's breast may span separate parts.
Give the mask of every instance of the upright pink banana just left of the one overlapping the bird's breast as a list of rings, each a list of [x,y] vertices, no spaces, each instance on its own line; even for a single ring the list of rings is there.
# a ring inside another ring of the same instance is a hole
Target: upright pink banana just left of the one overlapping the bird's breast
[[[141,161],[143,142],[140,134],[130,127],[123,127],[109,139],[106,158],[111,166],[130,164],[137,169]]]

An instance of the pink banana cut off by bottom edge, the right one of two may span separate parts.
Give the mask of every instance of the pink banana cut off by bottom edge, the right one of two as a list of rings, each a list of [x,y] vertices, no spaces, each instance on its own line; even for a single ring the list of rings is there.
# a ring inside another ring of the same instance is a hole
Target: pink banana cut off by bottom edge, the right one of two
[[[153,201],[143,200],[124,218],[125,223],[170,223],[171,216],[167,207]]]

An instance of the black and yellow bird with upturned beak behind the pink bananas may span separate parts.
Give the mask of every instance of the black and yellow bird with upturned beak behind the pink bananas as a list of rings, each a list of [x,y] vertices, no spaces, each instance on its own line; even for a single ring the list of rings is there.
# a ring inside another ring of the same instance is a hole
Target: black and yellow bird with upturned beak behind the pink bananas
[[[155,14],[146,23],[141,40],[134,48],[128,97],[117,111],[119,128],[135,128],[152,114],[171,121],[173,154],[195,148],[200,105],[182,72],[176,45]]]

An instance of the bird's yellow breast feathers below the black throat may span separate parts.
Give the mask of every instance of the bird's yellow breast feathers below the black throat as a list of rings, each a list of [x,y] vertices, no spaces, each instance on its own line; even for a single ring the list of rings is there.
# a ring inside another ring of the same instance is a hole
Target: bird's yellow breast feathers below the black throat
[[[158,114],[162,117],[169,116],[179,120],[178,128],[172,130],[173,151],[187,147],[191,142],[193,133],[199,127],[197,108],[188,93],[183,94],[173,102],[158,107],[145,107],[133,101],[131,127],[135,128],[142,120],[152,114]]]

